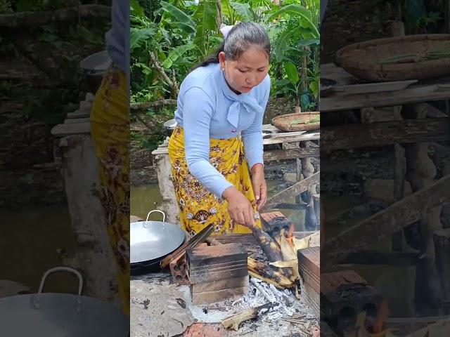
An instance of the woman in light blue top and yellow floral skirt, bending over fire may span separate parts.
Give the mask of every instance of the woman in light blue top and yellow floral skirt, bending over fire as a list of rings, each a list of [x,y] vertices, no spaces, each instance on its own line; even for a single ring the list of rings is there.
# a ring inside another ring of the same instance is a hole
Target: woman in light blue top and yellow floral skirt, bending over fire
[[[253,22],[226,32],[215,55],[180,87],[169,140],[176,198],[184,229],[195,234],[248,233],[261,227],[266,203],[262,120],[269,99],[270,41]],[[250,172],[251,178],[250,178]]]

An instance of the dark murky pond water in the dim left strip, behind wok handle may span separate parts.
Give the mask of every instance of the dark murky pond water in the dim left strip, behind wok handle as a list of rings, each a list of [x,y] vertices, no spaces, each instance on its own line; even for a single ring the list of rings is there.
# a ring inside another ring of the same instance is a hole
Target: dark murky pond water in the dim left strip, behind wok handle
[[[72,253],[75,238],[66,206],[0,210],[0,279],[20,282],[37,291],[41,277],[61,265],[57,249]],[[49,277],[45,291],[71,292],[77,289],[72,275]]]

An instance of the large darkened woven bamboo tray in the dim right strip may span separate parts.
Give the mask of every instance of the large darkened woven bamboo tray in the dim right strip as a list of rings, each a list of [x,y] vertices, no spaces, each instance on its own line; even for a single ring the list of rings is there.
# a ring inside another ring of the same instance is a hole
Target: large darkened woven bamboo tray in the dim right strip
[[[450,34],[365,41],[341,48],[336,59],[350,74],[371,81],[440,77],[450,74]]]

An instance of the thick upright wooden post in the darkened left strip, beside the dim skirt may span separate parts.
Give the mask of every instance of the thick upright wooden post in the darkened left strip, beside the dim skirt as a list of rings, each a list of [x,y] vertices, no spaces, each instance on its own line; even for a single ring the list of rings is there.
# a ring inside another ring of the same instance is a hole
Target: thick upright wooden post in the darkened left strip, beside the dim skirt
[[[84,134],[64,137],[59,145],[72,231],[77,242],[75,258],[63,263],[83,271],[86,296],[113,301],[119,306],[117,267],[111,263],[115,259],[98,197],[100,179],[94,144],[91,136]]]

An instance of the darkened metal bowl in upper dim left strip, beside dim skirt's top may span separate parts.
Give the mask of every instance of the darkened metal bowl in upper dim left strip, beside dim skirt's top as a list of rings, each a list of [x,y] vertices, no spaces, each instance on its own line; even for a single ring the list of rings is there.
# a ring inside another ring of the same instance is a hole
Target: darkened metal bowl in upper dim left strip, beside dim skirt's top
[[[79,67],[83,72],[83,79],[91,93],[96,93],[98,91],[103,79],[103,74],[105,74],[112,62],[113,60],[111,60],[107,51],[89,55],[79,62]]]

